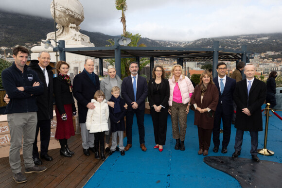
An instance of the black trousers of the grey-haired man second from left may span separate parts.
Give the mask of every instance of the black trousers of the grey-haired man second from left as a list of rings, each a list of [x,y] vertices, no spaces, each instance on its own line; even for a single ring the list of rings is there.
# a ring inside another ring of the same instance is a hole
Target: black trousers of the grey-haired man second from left
[[[38,158],[37,136],[40,129],[40,156],[48,153],[48,147],[51,135],[51,120],[38,120],[36,125],[35,141],[33,143],[33,158]]]

